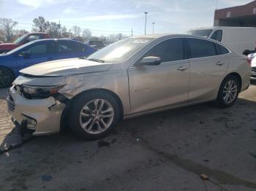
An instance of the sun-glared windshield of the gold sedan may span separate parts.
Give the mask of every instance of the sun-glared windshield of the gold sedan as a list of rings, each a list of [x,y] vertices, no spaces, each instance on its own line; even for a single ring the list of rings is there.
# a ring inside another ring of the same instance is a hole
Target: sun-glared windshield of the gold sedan
[[[116,43],[108,45],[94,54],[90,55],[87,60],[101,62],[119,62],[124,61],[133,55],[140,48],[154,40],[153,38],[127,38]]]

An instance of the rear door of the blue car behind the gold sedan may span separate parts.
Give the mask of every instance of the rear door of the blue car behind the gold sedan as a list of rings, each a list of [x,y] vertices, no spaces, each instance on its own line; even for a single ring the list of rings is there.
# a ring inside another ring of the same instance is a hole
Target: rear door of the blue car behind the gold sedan
[[[85,55],[86,47],[83,43],[72,40],[58,40],[57,59],[79,58]]]

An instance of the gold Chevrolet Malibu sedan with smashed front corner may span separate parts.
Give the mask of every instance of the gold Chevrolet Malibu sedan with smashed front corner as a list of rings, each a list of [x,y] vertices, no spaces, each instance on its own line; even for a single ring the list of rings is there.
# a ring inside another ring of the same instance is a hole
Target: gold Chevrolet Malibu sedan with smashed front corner
[[[7,104],[20,133],[68,126],[100,139],[118,120],[207,101],[232,106],[249,87],[246,56],[200,36],[122,39],[88,58],[40,63],[20,71]]]

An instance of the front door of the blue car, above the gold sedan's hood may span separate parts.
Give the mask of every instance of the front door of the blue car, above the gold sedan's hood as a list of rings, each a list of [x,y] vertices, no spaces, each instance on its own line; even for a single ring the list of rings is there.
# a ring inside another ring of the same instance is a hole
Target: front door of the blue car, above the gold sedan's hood
[[[56,44],[53,40],[35,42],[18,52],[16,66],[20,70],[37,63],[53,61],[56,59],[55,50]]]

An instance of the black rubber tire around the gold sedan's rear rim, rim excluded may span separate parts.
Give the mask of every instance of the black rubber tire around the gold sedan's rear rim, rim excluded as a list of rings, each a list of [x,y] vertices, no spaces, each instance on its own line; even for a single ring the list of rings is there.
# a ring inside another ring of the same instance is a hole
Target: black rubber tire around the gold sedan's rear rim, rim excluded
[[[236,83],[237,86],[237,93],[236,96],[234,96],[233,101],[231,101],[230,103],[227,103],[224,99],[224,89],[225,89],[225,85],[227,84],[227,82],[232,81],[234,83]],[[223,81],[222,84],[219,87],[219,93],[217,96],[217,100],[216,100],[216,104],[217,106],[221,106],[221,107],[230,107],[233,106],[233,104],[236,103],[236,100],[238,98],[238,94],[240,93],[241,90],[241,85],[240,82],[238,81],[238,78],[236,76],[230,75],[227,76]]]

